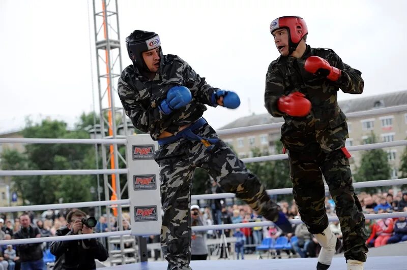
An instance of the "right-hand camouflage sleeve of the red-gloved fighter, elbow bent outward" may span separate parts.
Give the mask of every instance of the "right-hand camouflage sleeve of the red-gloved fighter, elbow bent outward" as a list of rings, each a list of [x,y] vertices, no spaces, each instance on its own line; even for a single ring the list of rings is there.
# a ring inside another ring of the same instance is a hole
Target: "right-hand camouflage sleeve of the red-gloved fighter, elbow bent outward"
[[[331,51],[329,58],[327,59],[328,62],[342,71],[339,80],[333,84],[345,93],[361,94],[365,84],[362,79],[362,73],[342,62],[342,59],[333,51]]]

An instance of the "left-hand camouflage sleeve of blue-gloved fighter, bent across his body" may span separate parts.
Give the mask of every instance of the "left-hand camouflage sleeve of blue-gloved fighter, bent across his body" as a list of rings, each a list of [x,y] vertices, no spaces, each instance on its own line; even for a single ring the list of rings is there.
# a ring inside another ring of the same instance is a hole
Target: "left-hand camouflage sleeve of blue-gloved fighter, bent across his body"
[[[124,72],[119,78],[118,92],[126,115],[131,119],[135,128],[148,132],[154,128],[156,122],[168,117],[161,113],[158,107],[145,109],[142,106],[138,91],[132,89],[132,86],[126,81]]]

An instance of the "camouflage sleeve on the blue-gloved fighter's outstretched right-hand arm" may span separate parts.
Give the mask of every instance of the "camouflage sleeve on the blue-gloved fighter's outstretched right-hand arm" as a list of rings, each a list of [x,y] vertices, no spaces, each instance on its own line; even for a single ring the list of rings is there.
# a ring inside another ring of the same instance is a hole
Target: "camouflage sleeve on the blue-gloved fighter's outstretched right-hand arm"
[[[192,67],[184,61],[184,84],[191,90],[192,96],[198,100],[198,102],[207,104],[213,107],[211,103],[211,96],[213,92],[219,91],[219,88],[215,88],[207,84],[205,78],[199,77],[198,74],[192,69]]]

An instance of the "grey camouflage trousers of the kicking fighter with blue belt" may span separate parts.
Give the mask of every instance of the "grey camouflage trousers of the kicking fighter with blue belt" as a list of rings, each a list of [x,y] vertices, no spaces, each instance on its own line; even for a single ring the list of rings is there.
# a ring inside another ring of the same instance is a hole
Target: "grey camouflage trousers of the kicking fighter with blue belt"
[[[194,131],[201,137],[218,138],[208,124]],[[278,207],[266,193],[256,176],[223,142],[207,151],[199,141],[184,138],[160,147],[154,155],[160,166],[161,203],[164,216],[161,227],[161,248],[168,268],[191,269],[191,187],[196,167],[209,172],[225,192],[236,193],[253,210],[275,220]]]

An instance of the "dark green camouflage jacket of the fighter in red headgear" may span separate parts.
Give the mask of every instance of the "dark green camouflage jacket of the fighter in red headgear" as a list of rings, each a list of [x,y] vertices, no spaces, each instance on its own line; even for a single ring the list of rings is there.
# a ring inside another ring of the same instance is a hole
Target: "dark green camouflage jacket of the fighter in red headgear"
[[[322,57],[341,70],[340,78],[332,82],[306,72],[304,62],[311,55]],[[345,93],[362,93],[361,74],[343,63],[333,50],[309,45],[301,58],[280,56],[271,62],[266,75],[265,106],[272,116],[284,118],[281,127],[284,147],[304,151],[310,144],[318,143],[325,152],[343,147],[348,131],[346,116],[337,103],[337,91],[340,88]],[[277,109],[278,98],[295,91],[305,94],[311,102],[311,113],[306,117],[292,117]]]

